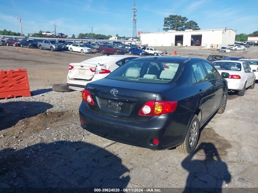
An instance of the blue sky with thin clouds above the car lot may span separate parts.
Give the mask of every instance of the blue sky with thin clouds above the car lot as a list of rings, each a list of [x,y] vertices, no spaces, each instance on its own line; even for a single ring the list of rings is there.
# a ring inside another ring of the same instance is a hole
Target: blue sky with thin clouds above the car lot
[[[115,36],[132,36],[133,0],[2,0],[0,30],[23,33],[56,31],[68,35],[80,32]],[[136,0],[137,31],[162,31],[164,17],[186,16],[202,30],[237,29],[237,34],[258,30],[257,0]],[[249,10],[249,11],[245,11]]]

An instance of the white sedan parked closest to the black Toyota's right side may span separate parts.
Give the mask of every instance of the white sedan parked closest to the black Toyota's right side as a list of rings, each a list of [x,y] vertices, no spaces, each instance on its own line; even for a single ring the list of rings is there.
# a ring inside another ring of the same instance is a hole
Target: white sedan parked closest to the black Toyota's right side
[[[212,63],[221,74],[229,73],[227,78],[228,91],[238,91],[239,96],[244,96],[246,88],[255,86],[255,74],[248,63],[244,61],[220,60]]]

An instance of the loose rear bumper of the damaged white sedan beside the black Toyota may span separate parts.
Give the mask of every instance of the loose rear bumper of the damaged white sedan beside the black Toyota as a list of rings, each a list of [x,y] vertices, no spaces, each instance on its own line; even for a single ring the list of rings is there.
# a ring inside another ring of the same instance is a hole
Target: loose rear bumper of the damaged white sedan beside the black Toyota
[[[84,90],[87,83],[105,78],[108,74],[95,74],[92,80],[74,80],[74,78],[69,77],[69,73],[67,75],[67,86],[68,88],[76,91]]]

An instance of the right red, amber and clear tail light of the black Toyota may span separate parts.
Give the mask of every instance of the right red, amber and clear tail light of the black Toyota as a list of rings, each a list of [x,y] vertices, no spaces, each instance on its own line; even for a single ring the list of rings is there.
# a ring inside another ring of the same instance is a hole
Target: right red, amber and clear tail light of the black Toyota
[[[176,110],[176,101],[148,101],[139,111],[139,115],[159,116]]]

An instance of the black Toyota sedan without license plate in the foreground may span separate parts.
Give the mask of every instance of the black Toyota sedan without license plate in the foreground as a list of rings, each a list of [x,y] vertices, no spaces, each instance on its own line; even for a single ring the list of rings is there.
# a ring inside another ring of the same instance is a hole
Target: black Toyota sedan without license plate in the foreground
[[[101,137],[150,149],[191,153],[199,128],[227,104],[228,73],[205,59],[133,59],[82,91],[81,127]]]

